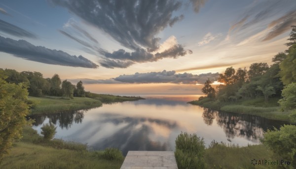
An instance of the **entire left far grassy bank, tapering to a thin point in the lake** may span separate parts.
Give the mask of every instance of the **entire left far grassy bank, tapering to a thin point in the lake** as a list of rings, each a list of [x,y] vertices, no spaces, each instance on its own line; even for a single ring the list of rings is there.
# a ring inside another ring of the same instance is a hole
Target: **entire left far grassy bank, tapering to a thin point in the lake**
[[[103,105],[103,103],[137,101],[144,98],[91,93],[89,98],[74,97],[73,99],[69,99],[52,96],[37,98],[29,96],[28,99],[32,104],[30,115],[34,115],[100,107]]]

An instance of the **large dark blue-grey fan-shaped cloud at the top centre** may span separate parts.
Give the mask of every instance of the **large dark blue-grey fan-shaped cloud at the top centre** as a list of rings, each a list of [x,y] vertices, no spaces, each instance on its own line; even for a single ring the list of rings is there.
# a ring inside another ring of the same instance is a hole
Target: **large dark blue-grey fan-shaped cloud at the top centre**
[[[121,45],[137,49],[157,49],[155,37],[168,25],[181,20],[173,17],[182,3],[173,0],[50,0],[63,6],[84,21],[110,34]]]

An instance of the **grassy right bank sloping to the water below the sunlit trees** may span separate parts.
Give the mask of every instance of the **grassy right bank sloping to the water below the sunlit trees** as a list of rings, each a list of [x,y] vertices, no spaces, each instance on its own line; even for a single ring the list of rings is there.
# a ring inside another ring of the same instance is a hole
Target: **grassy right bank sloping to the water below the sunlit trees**
[[[212,108],[215,110],[250,114],[267,119],[295,123],[289,117],[289,115],[292,114],[292,111],[281,111],[281,108],[278,105],[277,101],[278,98],[271,98],[268,103],[265,103],[264,98],[256,98],[250,100],[241,100],[237,102],[221,102],[205,97],[201,98],[198,101],[189,101],[187,103],[200,105],[206,108]]]

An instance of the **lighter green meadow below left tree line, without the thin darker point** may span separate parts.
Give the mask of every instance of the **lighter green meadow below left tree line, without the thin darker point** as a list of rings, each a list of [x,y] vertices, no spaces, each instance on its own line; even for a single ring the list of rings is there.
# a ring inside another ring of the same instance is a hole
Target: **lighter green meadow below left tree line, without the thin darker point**
[[[61,97],[36,98],[29,96],[28,98],[29,100],[36,103],[36,105],[34,105],[31,110],[31,115],[55,113],[60,111],[70,111],[102,106],[101,101],[94,100],[91,98],[74,97],[74,99],[71,100],[62,99]]]

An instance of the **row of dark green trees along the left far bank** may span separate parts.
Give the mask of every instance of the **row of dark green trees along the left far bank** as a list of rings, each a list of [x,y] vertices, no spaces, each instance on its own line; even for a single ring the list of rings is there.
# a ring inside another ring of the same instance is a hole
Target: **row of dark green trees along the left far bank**
[[[44,78],[42,73],[37,71],[18,72],[14,69],[1,69],[6,76],[7,83],[20,84],[24,83],[28,87],[29,96],[60,96],[66,98],[87,97],[90,92],[85,92],[81,81],[76,85],[70,81],[61,81],[58,74],[54,74],[51,78]]]

